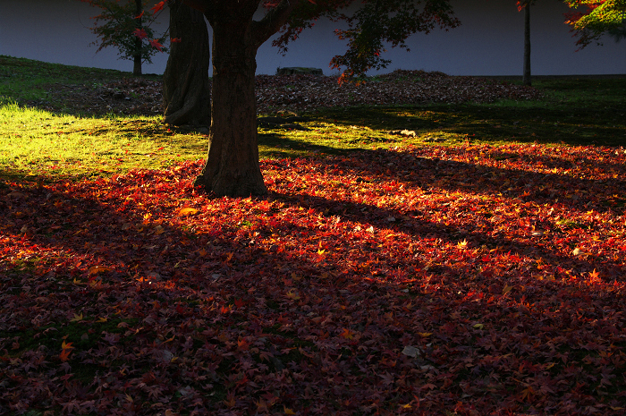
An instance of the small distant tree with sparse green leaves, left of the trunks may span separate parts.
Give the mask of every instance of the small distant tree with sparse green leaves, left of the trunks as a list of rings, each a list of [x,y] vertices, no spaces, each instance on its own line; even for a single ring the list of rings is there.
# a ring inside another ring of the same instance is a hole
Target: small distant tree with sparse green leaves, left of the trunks
[[[120,59],[133,62],[132,73],[141,74],[141,64],[151,64],[151,57],[157,52],[166,52],[166,35],[157,38],[150,25],[157,19],[155,13],[146,13],[148,4],[144,0],[80,0],[101,9],[101,13],[92,17],[94,25],[91,31],[99,41],[97,52],[105,47],[116,47]],[[154,8],[153,8],[154,9]],[[159,9],[160,10],[160,9]]]

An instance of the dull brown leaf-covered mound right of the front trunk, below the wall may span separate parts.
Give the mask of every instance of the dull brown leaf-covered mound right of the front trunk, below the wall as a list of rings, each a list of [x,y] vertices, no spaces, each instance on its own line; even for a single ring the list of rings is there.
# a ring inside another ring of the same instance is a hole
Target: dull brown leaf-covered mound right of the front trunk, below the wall
[[[538,89],[443,72],[397,70],[365,82],[315,75],[258,75],[260,113],[310,111],[321,107],[424,103],[491,103],[499,99],[542,97]]]

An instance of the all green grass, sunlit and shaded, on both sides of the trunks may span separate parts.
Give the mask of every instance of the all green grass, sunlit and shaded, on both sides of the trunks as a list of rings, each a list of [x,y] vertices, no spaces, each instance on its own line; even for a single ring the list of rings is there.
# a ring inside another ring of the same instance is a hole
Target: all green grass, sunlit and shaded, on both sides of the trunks
[[[169,130],[159,116],[81,115],[72,114],[71,109],[46,111],[32,104],[54,99],[49,91],[59,85],[96,88],[123,77],[131,74],[0,56],[0,177],[84,178],[205,157],[205,135]],[[430,143],[626,144],[626,79],[539,79],[534,85],[546,98],[324,109],[310,114],[309,123],[302,123],[309,128],[307,132],[259,129],[260,157],[306,157]],[[416,136],[391,134],[394,130],[413,131]]]

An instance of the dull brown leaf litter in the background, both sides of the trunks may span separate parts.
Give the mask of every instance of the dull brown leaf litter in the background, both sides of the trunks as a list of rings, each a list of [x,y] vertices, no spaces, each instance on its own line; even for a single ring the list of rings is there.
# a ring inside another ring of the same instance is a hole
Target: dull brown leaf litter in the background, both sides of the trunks
[[[375,81],[340,85],[337,80],[336,76],[258,75],[258,113],[299,114],[331,106],[490,103],[504,98],[542,97],[539,90],[530,87],[443,72],[398,70],[378,76]],[[144,78],[97,85],[54,84],[48,90],[47,101],[29,104],[49,111],[71,108],[96,115],[159,115],[163,114],[162,89],[161,81]]]

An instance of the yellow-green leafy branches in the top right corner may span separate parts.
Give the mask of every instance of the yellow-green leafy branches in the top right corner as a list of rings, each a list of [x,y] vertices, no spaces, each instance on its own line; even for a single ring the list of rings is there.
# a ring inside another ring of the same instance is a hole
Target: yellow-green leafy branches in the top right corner
[[[575,12],[566,13],[565,23],[577,32],[577,45],[600,44],[605,34],[626,38],[626,0],[564,0]],[[582,10],[581,10],[582,9]]]

